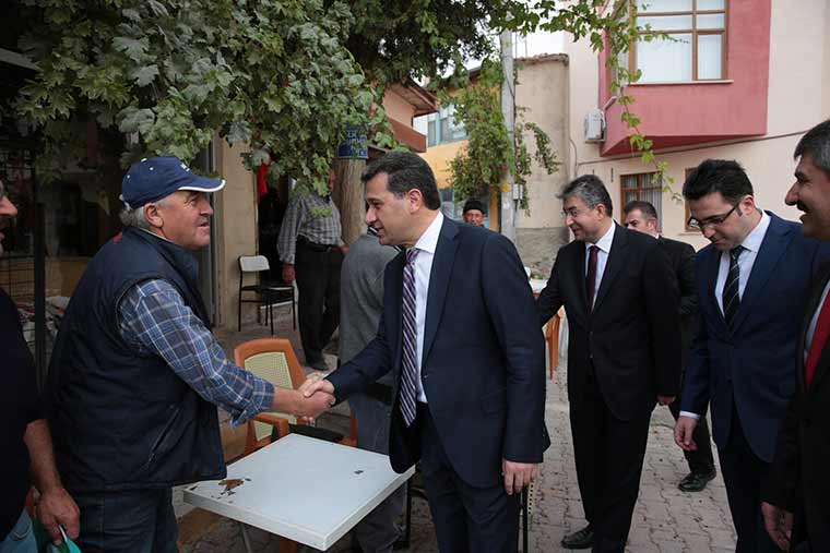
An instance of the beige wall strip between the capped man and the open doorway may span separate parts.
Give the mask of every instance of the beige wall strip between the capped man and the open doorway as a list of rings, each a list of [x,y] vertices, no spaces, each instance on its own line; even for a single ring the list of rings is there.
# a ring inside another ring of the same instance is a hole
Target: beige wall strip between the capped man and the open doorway
[[[216,194],[214,225],[216,231],[216,325],[236,329],[239,298],[240,255],[257,253],[257,193],[253,173],[245,169],[240,153],[247,147],[230,147],[216,141],[216,167],[226,184]],[[250,277],[249,277],[250,278]],[[251,284],[253,280],[246,280]],[[242,322],[257,316],[256,304],[242,305]]]

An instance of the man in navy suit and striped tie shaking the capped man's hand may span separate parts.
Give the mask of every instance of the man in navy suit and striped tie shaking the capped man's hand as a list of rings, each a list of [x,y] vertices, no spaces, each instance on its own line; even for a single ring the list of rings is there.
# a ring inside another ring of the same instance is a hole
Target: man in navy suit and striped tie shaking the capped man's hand
[[[366,221],[387,265],[376,338],[327,380],[304,384],[337,400],[395,376],[389,454],[420,460],[442,552],[514,552],[518,496],[549,445],[544,339],[513,244],[444,218],[420,157],[390,153],[367,166]]]

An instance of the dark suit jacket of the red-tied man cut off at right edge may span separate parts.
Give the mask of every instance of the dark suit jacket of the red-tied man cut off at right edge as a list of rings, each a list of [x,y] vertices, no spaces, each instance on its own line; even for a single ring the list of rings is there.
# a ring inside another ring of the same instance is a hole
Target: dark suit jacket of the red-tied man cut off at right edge
[[[804,382],[804,345],[807,328],[830,279],[830,265],[810,291],[795,351],[797,389],[786,411],[762,497],[795,513],[793,542],[804,530],[813,551],[830,551],[830,340],[821,350],[809,389]],[[799,531],[801,530],[801,531]],[[801,534],[801,536],[799,536]]]

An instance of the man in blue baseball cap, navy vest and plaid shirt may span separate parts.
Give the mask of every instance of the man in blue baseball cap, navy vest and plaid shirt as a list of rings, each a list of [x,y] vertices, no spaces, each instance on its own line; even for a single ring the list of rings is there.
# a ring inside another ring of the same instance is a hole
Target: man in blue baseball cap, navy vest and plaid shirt
[[[210,242],[208,194],[224,184],[175,157],[133,165],[124,230],[92,259],[61,323],[46,393],[85,553],[176,551],[173,486],[225,478],[216,406],[236,426],[333,402],[234,365],[211,334],[192,252]]]

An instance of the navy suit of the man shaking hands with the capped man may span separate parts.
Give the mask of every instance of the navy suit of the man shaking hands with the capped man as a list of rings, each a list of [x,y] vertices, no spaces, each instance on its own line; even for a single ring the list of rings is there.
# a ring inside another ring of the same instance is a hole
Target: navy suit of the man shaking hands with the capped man
[[[411,428],[400,408],[405,254],[387,265],[377,337],[328,378],[337,399],[394,375],[389,456],[405,471],[420,460],[442,552],[514,552],[517,494],[507,496],[502,458],[541,462],[545,345],[533,292],[513,244],[444,219],[432,259],[418,402]]]

